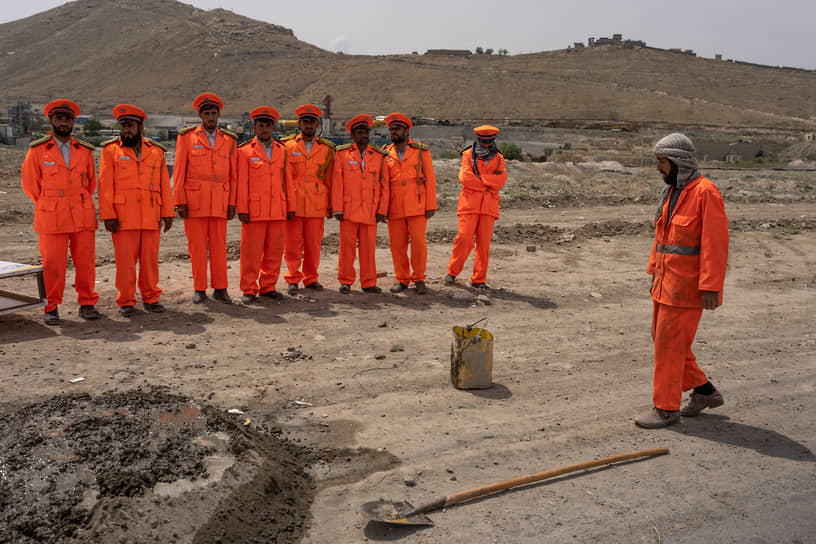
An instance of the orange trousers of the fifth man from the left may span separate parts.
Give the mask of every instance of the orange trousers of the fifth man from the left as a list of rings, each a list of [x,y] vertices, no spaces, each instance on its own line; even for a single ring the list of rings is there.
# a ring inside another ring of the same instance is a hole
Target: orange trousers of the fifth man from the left
[[[303,285],[309,285],[317,281],[323,225],[322,217],[293,217],[286,222],[286,283],[303,280]]]

